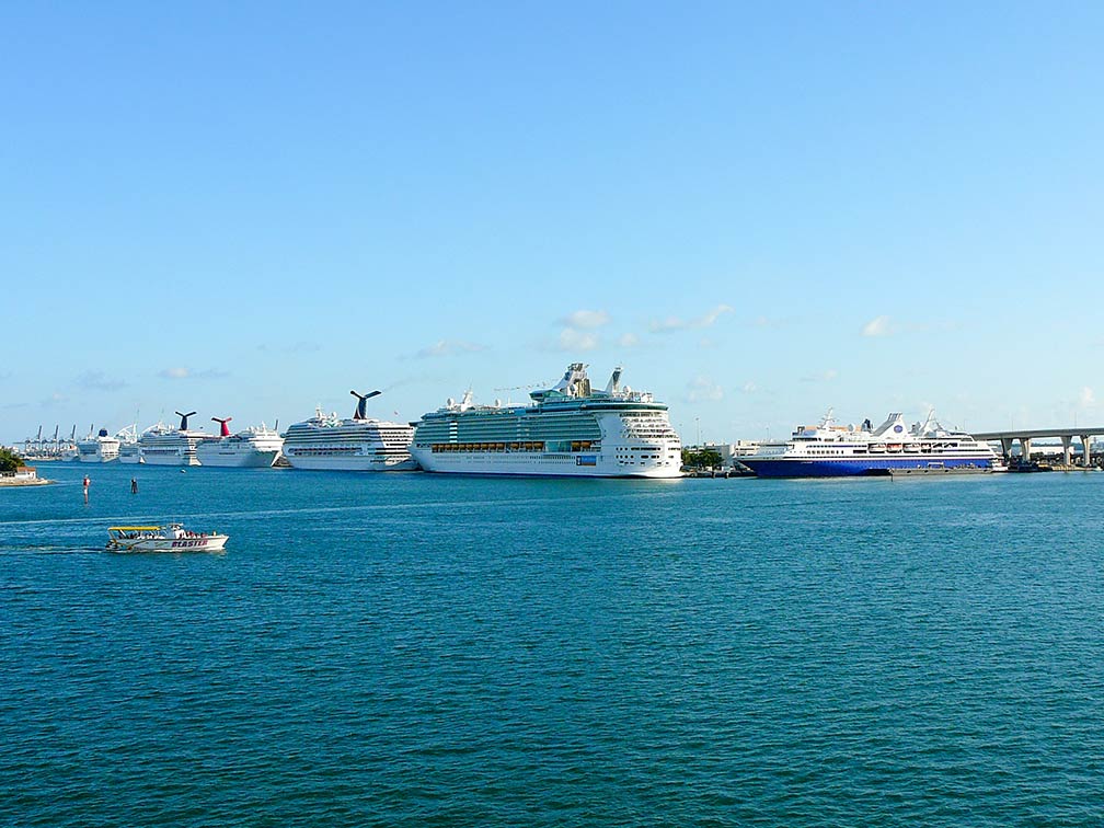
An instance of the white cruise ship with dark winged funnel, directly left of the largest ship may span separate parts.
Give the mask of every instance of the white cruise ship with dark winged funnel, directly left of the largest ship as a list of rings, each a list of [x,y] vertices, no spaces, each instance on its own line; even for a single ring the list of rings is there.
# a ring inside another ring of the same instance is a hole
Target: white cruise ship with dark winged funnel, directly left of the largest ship
[[[284,457],[293,468],[335,471],[402,471],[417,468],[410,454],[414,429],[368,416],[367,404],[380,394],[349,392],[357,397],[351,420],[323,414],[296,423],[284,434]]]

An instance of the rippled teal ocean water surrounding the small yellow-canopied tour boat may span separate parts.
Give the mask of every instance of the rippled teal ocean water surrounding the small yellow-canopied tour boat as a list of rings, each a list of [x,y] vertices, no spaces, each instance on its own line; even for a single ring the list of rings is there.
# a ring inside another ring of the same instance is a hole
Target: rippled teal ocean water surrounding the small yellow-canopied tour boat
[[[1104,475],[40,471],[0,825],[1104,822]]]

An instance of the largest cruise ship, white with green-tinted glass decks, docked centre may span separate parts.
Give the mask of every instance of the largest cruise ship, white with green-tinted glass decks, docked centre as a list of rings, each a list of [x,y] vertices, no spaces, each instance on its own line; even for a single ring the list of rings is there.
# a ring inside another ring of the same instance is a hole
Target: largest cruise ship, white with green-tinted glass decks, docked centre
[[[528,405],[474,405],[471,392],[415,424],[411,454],[426,471],[556,477],[681,477],[682,445],[667,405],[620,385],[591,388],[573,362]]]

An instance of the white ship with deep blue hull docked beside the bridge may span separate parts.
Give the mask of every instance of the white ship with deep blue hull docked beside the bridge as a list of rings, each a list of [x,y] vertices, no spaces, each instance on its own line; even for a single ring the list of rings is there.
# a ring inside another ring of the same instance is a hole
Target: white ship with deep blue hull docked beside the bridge
[[[998,471],[985,443],[940,425],[935,413],[911,428],[900,413],[877,428],[836,425],[831,410],[819,425],[802,425],[787,443],[763,444],[740,461],[760,477],[854,477],[912,471]]]

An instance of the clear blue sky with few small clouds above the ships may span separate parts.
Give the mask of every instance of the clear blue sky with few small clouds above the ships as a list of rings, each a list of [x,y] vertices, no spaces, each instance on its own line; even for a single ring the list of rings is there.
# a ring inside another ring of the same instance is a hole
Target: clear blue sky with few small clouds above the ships
[[[1104,425],[1104,6],[9,4],[0,442],[519,402]]]

